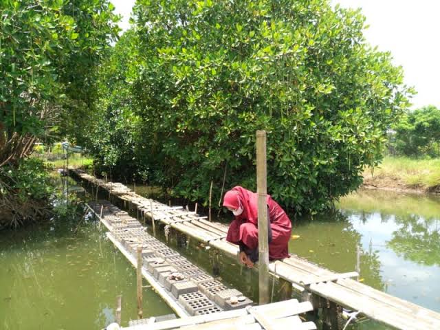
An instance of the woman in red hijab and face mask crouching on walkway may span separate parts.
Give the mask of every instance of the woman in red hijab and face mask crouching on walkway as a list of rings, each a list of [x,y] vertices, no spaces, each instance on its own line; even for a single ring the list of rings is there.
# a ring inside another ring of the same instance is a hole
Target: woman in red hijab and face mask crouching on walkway
[[[283,208],[270,195],[267,195],[266,203],[269,259],[288,258],[292,223]],[[225,193],[223,206],[235,216],[229,226],[226,241],[239,245],[241,263],[250,268],[254,267],[259,252],[258,195],[236,186]]]

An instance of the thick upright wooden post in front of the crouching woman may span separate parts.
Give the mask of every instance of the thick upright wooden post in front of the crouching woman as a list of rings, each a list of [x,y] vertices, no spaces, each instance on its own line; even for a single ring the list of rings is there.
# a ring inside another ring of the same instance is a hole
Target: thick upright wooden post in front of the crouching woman
[[[259,218],[259,303],[270,302],[269,241],[267,239],[266,132],[256,131],[256,192]]]

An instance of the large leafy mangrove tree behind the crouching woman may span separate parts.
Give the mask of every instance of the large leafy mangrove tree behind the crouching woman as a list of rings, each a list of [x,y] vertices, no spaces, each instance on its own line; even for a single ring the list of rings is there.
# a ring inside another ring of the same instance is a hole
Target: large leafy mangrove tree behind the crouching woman
[[[408,105],[401,68],[365,43],[364,17],[329,1],[138,0],[134,17],[137,36],[129,50],[120,41],[100,86],[94,153],[178,197],[206,203],[213,180],[219,200],[225,170],[225,188],[255,189],[265,129],[269,192],[324,210],[377,165]]]

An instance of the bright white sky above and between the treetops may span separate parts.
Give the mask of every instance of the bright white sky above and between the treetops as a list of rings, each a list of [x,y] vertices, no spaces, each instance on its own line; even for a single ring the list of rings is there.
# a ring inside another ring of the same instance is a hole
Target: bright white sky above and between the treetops
[[[122,15],[120,27],[129,28],[135,0],[111,0]],[[391,52],[395,65],[404,68],[405,83],[415,87],[412,108],[433,104],[440,108],[440,0],[331,0],[333,5],[362,8],[370,27],[366,40]]]

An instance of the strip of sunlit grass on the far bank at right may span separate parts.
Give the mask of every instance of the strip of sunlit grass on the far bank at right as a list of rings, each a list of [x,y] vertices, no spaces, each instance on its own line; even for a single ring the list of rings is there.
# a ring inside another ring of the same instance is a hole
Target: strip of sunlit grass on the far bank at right
[[[382,164],[364,172],[364,183],[377,186],[406,186],[431,190],[440,186],[440,159],[385,157]],[[391,187],[392,188],[392,187]]]

